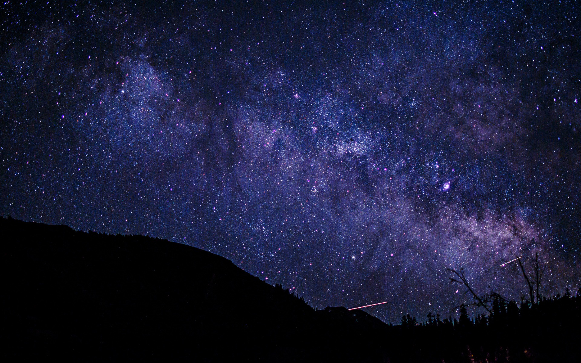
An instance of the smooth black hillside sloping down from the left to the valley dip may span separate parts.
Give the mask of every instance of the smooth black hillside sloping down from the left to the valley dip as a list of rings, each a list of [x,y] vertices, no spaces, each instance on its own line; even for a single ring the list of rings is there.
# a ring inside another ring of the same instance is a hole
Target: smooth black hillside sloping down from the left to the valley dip
[[[11,218],[0,236],[8,358],[382,360],[381,321],[315,312],[207,251]]]

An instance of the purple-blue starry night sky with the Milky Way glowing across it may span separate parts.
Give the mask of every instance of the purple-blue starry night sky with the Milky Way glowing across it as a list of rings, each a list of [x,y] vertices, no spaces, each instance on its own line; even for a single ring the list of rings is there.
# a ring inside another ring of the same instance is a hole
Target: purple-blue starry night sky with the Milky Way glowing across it
[[[545,294],[581,283],[575,2],[0,9],[4,216],[187,243],[388,322],[470,302],[446,268],[520,300],[500,265],[539,253]]]

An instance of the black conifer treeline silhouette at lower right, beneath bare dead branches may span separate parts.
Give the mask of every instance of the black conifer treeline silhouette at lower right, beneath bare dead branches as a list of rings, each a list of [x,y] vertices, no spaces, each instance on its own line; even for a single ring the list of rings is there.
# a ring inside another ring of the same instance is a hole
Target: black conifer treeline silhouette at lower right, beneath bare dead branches
[[[580,362],[581,287],[572,294],[540,297],[535,303],[492,300],[489,314],[441,318],[428,313],[418,324],[401,318],[397,338],[407,353],[392,355],[405,362]],[[394,359],[395,358],[395,359]]]

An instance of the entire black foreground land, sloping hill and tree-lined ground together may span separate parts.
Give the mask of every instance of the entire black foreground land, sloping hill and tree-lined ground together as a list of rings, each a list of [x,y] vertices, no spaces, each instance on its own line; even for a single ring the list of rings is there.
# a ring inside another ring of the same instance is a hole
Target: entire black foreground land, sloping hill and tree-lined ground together
[[[390,326],[178,243],[4,218],[0,236],[10,361],[581,361],[581,297]]]

